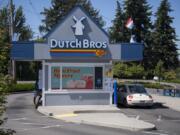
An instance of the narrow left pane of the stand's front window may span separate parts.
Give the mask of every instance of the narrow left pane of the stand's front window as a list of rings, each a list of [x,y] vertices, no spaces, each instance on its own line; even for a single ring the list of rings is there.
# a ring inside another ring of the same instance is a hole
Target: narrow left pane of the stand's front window
[[[51,67],[51,89],[60,89],[61,70],[59,66]]]

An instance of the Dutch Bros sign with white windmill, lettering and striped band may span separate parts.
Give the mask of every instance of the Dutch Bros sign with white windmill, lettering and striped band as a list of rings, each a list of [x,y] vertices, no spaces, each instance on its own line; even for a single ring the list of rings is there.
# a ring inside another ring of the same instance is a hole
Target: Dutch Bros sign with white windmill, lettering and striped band
[[[83,38],[84,30],[86,29],[87,19],[84,16],[79,17],[71,16],[73,25],[69,26],[73,30],[73,33],[79,38],[74,40],[59,40],[56,38],[50,38],[50,52],[51,53],[88,53],[94,54],[94,56],[104,56],[108,43],[106,41],[93,41],[90,39]],[[92,28],[93,29],[93,28]]]

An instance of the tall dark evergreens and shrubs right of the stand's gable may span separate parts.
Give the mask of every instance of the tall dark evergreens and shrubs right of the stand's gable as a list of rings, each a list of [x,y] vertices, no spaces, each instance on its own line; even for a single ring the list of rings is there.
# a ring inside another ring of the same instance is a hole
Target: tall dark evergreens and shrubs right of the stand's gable
[[[109,29],[110,41],[112,43],[129,42],[130,36],[133,34],[137,42],[143,43],[144,56],[141,62],[115,63],[115,73],[120,72],[118,69],[126,67],[125,70],[129,74],[133,74],[132,68],[138,68],[136,70],[141,71],[139,72],[140,78],[142,76],[152,78],[154,75],[158,76],[159,72],[162,71],[169,72],[167,73],[169,75],[175,74],[174,70],[178,68],[179,60],[176,31],[172,27],[174,18],[170,16],[172,11],[173,9],[168,0],[162,0],[155,13],[155,21],[153,23],[151,20],[152,7],[146,0],[125,0],[123,8],[117,1],[116,15],[112,21],[113,26]],[[125,27],[129,17],[132,18],[134,23],[132,30]],[[161,70],[159,69],[158,72],[159,65]],[[115,75],[122,77],[121,74]],[[123,77],[129,78],[130,76],[124,75]],[[136,76],[132,75],[131,77]],[[166,75],[164,77],[168,78]]]

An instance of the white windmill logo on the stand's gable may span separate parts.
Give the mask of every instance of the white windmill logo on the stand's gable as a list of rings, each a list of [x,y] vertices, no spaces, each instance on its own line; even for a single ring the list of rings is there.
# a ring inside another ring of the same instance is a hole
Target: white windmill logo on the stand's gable
[[[82,36],[83,35],[83,30],[85,28],[82,21],[84,19],[86,19],[86,17],[81,17],[81,19],[78,20],[75,16],[73,16],[73,19],[75,21],[75,24],[72,27],[75,28],[75,35],[76,36]]]

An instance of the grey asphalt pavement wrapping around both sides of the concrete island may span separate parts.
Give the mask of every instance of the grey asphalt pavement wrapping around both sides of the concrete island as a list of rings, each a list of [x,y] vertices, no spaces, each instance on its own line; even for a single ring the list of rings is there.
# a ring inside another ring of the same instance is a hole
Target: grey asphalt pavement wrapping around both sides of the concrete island
[[[76,124],[49,118],[38,113],[32,103],[32,93],[13,94],[8,97],[4,128],[14,129],[17,135],[179,135],[180,113],[155,106],[145,108],[121,108],[130,117],[156,124],[157,130],[127,131],[101,126]]]

